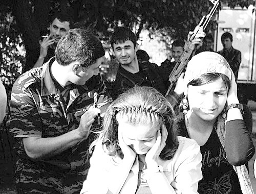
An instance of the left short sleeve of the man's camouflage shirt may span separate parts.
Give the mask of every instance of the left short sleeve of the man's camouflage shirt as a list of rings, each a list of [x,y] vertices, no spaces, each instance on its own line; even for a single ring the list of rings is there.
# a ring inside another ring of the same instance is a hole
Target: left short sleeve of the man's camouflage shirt
[[[41,120],[29,89],[13,85],[10,104],[10,132],[14,137],[41,137]]]

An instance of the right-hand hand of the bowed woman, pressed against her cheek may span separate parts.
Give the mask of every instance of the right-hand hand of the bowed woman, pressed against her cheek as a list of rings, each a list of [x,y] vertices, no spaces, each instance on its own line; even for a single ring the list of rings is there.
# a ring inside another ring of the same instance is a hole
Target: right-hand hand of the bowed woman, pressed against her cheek
[[[160,132],[162,131],[162,133]],[[167,129],[164,124],[162,124],[161,129],[157,132],[157,140],[154,146],[146,153],[145,162],[147,169],[157,169],[159,155],[165,147],[167,139]]]

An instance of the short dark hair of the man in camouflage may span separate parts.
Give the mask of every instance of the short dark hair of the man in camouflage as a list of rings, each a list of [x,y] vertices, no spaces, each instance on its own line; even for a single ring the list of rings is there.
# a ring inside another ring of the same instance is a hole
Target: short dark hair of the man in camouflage
[[[101,42],[83,29],[71,29],[61,37],[55,50],[56,60],[63,66],[79,61],[83,67],[88,67],[104,55]]]

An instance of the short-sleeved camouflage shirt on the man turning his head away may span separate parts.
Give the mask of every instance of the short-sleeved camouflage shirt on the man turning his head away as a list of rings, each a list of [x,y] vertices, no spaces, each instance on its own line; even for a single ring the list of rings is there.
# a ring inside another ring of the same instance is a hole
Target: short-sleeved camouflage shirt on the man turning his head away
[[[58,174],[57,177],[72,174],[77,178],[80,175],[82,183],[89,168],[88,148],[94,139],[93,134],[62,154],[44,160],[31,160],[24,150],[22,138],[56,137],[78,128],[74,112],[92,105],[95,92],[98,96],[106,96],[106,87],[98,75],[88,80],[86,85],[74,85],[70,90],[70,101],[66,105],[50,75],[53,60],[50,61],[42,67],[27,71],[16,80],[12,88],[10,132],[17,142],[17,182],[27,181],[25,179],[29,175],[25,175],[25,172],[29,174],[34,170],[33,177],[36,176],[35,173],[39,173],[37,170],[44,168],[46,172]],[[77,180],[74,181],[76,184]]]

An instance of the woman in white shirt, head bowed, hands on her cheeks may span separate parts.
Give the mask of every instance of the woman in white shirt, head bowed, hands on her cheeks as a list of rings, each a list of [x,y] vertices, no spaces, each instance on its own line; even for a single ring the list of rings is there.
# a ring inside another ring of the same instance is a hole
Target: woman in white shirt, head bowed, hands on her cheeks
[[[200,147],[177,136],[170,103],[152,87],[134,87],[105,112],[80,193],[198,193]]]

